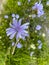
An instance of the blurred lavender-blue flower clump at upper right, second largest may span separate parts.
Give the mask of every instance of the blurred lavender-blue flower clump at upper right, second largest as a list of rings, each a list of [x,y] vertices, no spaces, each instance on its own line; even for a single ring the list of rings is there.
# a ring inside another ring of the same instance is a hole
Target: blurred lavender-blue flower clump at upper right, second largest
[[[37,16],[40,17],[44,14],[43,5],[41,3],[36,2],[35,5],[32,7],[32,10],[37,11]]]

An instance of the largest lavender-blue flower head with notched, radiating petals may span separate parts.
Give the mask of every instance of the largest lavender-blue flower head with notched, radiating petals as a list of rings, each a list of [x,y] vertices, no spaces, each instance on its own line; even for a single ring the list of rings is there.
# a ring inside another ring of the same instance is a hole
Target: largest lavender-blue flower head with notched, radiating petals
[[[20,38],[24,40],[26,36],[29,36],[27,31],[29,23],[21,25],[21,21],[22,19],[19,19],[19,21],[14,19],[10,28],[6,29],[7,36],[10,36],[10,39],[16,37],[16,40]]]

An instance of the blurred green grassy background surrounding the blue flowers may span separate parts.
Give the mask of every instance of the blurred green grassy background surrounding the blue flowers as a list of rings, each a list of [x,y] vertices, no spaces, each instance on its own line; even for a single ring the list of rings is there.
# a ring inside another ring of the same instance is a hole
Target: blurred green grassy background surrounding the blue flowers
[[[40,0],[0,0],[0,65],[49,65],[49,5],[42,0],[45,14],[40,18],[28,18],[34,12],[31,10],[35,2]],[[18,6],[21,2],[21,6]],[[19,14],[24,18],[23,23],[29,21],[29,38],[20,40],[23,47],[16,48],[14,55],[11,54],[12,42],[6,35],[6,28],[12,22],[12,13]],[[9,18],[5,19],[4,16]],[[36,25],[40,24],[42,29],[36,31]],[[38,40],[42,42],[42,48],[38,49]],[[32,56],[30,56],[33,52]]]

